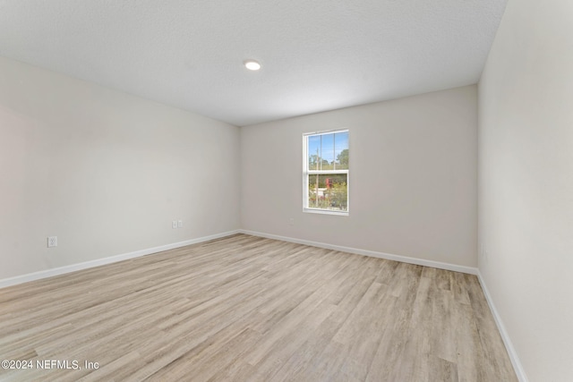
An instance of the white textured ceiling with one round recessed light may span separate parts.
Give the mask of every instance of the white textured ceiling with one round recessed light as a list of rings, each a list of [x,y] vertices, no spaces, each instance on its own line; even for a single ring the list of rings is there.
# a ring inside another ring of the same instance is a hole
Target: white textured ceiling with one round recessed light
[[[0,0],[0,55],[243,126],[475,83],[506,1]]]

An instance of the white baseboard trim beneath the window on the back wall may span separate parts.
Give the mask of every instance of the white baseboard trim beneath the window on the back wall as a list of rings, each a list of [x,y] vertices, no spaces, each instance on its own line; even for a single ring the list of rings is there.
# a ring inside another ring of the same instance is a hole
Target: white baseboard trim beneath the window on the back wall
[[[308,240],[295,239],[293,237],[278,236],[276,234],[260,233],[260,232],[254,232],[254,231],[249,231],[249,230],[244,230],[244,229],[240,229],[239,232],[251,234],[252,236],[265,237],[267,239],[280,240],[283,242],[295,242],[297,244],[312,245],[313,247],[326,248],[327,250],[340,250],[343,252],[355,253],[357,255],[369,256],[371,258],[394,260],[394,261],[400,261],[400,262],[408,263],[408,264],[415,264],[418,266],[435,267],[435,268],[439,268],[439,269],[451,270],[454,272],[462,272],[462,273],[467,273],[470,275],[477,275],[477,268],[476,267],[465,267],[465,266],[458,266],[456,264],[442,263],[440,261],[432,261],[432,260],[426,260],[426,259],[415,259],[415,258],[409,258],[406,256],[392,255],[390,253],[377,252],[374,250],[360,250],[360,249],[356,249],[356,248],[342,247],[340,245],[327,244],[325,242],[311,242]]]

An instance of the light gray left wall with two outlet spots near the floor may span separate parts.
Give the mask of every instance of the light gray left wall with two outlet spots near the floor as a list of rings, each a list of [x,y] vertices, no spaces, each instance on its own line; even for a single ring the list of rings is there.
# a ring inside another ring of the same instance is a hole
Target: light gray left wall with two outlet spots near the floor
[[[235,126],[0,58],[0,279],[239,228],[239,149]]]

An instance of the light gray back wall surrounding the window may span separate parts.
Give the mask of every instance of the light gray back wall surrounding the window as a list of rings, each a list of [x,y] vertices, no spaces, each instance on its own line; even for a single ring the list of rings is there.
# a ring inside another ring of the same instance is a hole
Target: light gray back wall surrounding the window
[[[467,86],[241,128],[242,228],[475,267],[476,98]],[[302,135],[338,128],[350,216],[303,213]]]

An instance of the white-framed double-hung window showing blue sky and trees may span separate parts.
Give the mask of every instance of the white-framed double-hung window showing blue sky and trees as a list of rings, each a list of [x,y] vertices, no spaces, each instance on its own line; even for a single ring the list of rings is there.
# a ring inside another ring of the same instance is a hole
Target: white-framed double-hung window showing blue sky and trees
[[[348,131],[303,135],[303,210],[348,215]]]

